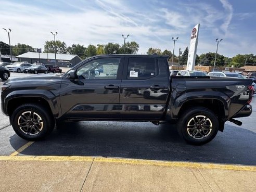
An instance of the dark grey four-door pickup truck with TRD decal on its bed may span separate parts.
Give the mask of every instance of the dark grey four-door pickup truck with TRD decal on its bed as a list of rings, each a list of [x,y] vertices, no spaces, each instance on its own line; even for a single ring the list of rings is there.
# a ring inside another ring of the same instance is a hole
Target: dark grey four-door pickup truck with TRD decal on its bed
[[[252,112],[252,80],[171,77],[159,55],[95,56],[65,74],[8,80],[1,91],[2,111],[28,140],[66,121],[150,121],[176,124],[186,142],[200,145]]]

